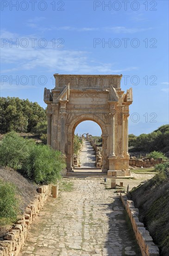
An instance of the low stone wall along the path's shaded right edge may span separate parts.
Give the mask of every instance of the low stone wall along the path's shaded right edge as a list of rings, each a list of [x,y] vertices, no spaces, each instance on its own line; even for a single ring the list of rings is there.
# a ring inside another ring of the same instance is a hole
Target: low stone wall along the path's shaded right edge
[[[128,216],[130,217],[132,228],[141,249],[142,256],[159,256],[159,249],[153,243],[149,231],[144,228],[144,224],[142,222],[139,222],[139,212],[138,209],[134,207],[134,202],[128,200],[126,195],[120,194],[120,196]]]

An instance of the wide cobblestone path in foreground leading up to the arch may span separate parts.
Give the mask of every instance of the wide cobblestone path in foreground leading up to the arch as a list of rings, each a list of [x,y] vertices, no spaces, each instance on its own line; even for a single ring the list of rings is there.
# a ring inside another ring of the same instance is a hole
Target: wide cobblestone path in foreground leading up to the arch
[[[73,190],[48,199],[19,256],[141,256],[114,189],[105,189],[103,179],[63,182]]]

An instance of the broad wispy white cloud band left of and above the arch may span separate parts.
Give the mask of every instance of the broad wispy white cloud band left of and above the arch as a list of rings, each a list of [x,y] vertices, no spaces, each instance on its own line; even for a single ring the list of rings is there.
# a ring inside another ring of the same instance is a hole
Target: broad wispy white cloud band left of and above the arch
[[[9,33],[5,32],[6,34]],[[15,36],[16,34],[10,34],[11,38]],[[21,38],[29,40],[30,38],[30,36],[21,37],[20,35],[17,35],[17,37],[19,40]],[[77,74],[113,74],[137,69],[137,67],[115,69],[114,67],[118,67],[117,63],[100,63],[92,60],[91,53],[87,51],[53,48],[51,41],[47,41],[47,47],[45,48],[31,47],[31,45],[26,48],[20,46],[17,48],[4,45],[1,48],[1,61],[6,65],[10,65],[9,68],[1,71],[3,74],[35,69],[40,69],[41,71],[45,69],[46,72],[57,69],[61,72]]]

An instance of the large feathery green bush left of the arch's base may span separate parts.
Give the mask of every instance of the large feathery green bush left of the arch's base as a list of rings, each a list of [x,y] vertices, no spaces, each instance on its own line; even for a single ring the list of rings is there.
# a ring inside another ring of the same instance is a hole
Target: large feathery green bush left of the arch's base
[[[19,170],[37,184],[56,182],[65,167],[61,152],[48,145],[20,137],[15,132],[6,134],[0,142],[0,164]]]

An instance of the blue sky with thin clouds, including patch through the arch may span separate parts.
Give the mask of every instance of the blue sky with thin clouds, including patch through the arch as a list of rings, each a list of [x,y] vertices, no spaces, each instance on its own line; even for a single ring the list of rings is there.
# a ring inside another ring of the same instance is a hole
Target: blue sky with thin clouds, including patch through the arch
[[[129,133],[150,133],[169,123],[168,20],[168,0],[1,0],[0,96],[45,108],[55,73],[123,74],[121,88],[133,88]],[[87,124],[76,132],[100,135]]]

